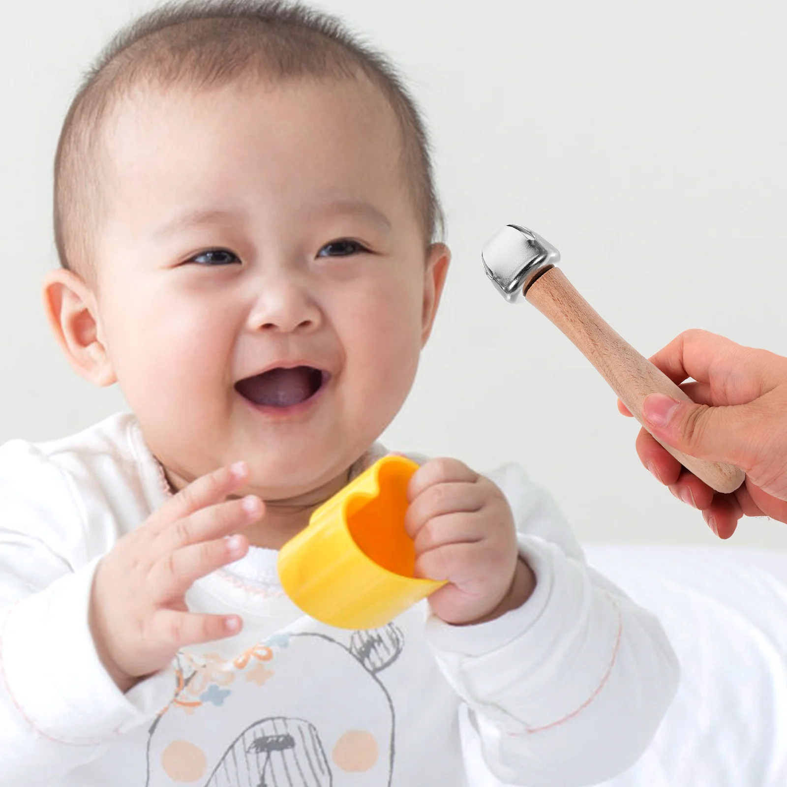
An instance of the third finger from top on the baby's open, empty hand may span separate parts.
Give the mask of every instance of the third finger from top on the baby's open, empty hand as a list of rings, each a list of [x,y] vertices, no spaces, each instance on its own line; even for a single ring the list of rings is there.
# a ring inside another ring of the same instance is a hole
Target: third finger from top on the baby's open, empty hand
[[[199,578],[240,560],[248,552],[249,541],[235,534],[201,541],[176,549],[168,557],[159,560],[150,570],[150,593],[153,602],[162,604],[168,600],[183,598],[183,594]]]

